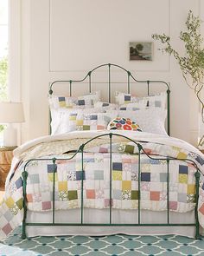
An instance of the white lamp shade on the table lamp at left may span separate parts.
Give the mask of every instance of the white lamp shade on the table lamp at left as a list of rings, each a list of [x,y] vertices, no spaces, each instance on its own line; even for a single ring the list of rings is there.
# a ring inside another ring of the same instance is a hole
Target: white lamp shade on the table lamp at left
[[[0,102],[0,123],[23,122],[22,102]]]

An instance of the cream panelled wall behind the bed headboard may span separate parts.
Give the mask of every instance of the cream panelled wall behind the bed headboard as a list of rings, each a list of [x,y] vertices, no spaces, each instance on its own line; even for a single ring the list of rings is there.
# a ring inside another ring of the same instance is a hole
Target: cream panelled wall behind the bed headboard
[[[16,1],[16,0],[11,0]],[[113,62],[137,79],[170,83],[171,135],[196,144],[198,105],[173,58],[154,43],[152,62],[129,61],[129,42],[167,33],[177,49],[188,10],[200,0],[19,0],[21,2],[21,91],[26,112],[22,141],[48,135],[48,85],[82,78],[96,65]],[[104,75],[100,72],[100,77]],[[119,80],[120,74],[116,71]],[[15,89],[15,85],[11,84]],[[191,115],[191,116],[189,116]]]

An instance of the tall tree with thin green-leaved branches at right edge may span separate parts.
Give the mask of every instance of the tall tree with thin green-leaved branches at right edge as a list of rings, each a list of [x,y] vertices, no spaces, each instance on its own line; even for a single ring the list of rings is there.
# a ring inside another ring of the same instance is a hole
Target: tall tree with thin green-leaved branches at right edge
[[[154,34],[152,38],[163,43],[164,47],[160,50],[174,56],[180,65],[183,78],[188,87],[194,90],[194,94],[201,104],[201,122],[204,126],[204,97],[202,95],[204,89],[204,40],[200,33],[201,20],[198,16],[194,16],[192,10],[188,12],[186,26],[187,30],[181,31],[179,36],[184,44],[184,56],[175,50],[169,36]],[[198,147],[204,148],[204,135],[201,135]]]

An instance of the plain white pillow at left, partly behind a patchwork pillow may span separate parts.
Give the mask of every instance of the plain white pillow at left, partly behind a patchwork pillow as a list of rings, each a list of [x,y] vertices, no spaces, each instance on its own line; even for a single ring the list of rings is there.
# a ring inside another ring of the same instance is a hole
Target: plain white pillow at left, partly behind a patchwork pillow
[[[69,108],[51,108],[51,135],[60,135],[76,130],[77,115],[88,113],[103,113],[103,108],[84,108],[84,109],[69,109]]]

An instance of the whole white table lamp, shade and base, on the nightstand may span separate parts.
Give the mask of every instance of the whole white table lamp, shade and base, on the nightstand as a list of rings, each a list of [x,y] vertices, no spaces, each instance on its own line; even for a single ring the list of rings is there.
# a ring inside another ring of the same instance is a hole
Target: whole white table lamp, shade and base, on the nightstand
[[[3,147],[17,145],[16,128],[12,123],[23,122],[22,102],[0,102],[0,123],[7,124],[3,130]]]

